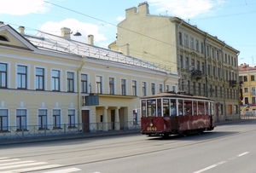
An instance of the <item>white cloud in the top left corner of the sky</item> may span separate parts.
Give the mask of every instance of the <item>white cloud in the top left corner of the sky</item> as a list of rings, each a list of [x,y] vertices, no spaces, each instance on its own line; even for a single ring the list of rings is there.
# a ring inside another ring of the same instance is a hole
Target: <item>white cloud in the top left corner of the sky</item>
[[[45,13],[49,9],[44,0],[6,0],[1,3],[0,14],[25,15]]]

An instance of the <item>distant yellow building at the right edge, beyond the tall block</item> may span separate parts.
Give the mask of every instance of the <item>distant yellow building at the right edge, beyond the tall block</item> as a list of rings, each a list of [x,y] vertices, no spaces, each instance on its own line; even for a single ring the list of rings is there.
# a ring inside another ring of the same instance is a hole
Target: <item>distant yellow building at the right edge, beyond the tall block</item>
[[[244,63],[239,66],[239,80],[242,84],[241,115],[256,114],[256,66]]]

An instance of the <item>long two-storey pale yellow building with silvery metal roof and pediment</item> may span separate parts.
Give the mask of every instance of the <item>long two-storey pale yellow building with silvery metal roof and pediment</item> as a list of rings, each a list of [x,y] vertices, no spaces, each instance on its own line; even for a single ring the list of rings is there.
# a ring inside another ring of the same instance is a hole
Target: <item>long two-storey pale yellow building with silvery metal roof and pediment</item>
[[[177,86],[176,73],[96,47],[91,35],[81,43],[66,27],[31,36],[0,23],[0,131],[129,128],[140,96]]]

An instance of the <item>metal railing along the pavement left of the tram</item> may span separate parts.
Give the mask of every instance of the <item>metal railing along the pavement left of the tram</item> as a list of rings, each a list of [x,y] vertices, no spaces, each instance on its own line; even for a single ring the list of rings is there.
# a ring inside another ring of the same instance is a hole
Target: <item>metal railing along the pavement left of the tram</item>
[[[61,124],[56,127],[53,124],[9,126],[0,130],[0,144],[17,143],[24,141],[49,141],[65,138],[76,138],[86,136],[102,136],[106,134],[120,134],[141,130],[140,122],[108,122],[108,123],[90,123],[90,124]],[[4,130],[6,129],[6,130]]]

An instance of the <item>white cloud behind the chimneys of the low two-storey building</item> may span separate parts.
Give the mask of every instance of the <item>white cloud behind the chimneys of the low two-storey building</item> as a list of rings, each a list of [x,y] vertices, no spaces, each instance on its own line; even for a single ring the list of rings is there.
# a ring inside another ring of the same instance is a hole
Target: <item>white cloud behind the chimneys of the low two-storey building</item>
[[[90,34],[94,36],[95,43],[107,40],[107,37],[105,37],[102,33],[99,33],[99,26],[90,23],[83,23],[75,19],[66,19],[58,22],[48,21],[41,26],[39,30],[61,36],[62,27],[70,28],[73,34],[75,32],[80,32],[82,34],[80,37],[71,35],[72,39],[80,42],[87,43],[88,35]]]

